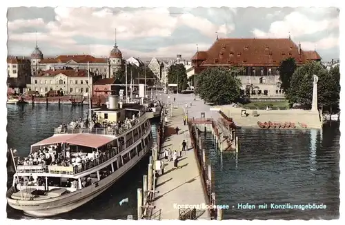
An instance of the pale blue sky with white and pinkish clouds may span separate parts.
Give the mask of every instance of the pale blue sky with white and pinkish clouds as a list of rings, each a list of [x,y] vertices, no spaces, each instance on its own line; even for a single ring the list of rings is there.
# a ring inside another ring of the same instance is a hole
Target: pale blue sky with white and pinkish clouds
[[[190,59],[219,38],[288,38],[324,61],[339,59],[337,8],[9,8],[8,55]]]

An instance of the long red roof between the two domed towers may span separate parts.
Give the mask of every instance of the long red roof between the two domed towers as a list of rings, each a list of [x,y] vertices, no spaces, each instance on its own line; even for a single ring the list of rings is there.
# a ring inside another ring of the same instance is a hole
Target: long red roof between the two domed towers
[[[68,61],[76,63],[107,63],[106,58],[96,58],[92,55],[59,55],[56,58],[42,59],[39,63],[68,63]]]

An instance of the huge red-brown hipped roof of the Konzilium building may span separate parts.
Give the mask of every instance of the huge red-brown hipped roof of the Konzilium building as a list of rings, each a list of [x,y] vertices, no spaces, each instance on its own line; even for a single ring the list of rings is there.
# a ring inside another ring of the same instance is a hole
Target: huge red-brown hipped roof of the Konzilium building
[[[279,66],[288,57],[305,63],[310,53],[298,49],[291,39],[218,39],[192,60],[206,58],[200,66]],[[317,52],[315,58],[321,59]]]

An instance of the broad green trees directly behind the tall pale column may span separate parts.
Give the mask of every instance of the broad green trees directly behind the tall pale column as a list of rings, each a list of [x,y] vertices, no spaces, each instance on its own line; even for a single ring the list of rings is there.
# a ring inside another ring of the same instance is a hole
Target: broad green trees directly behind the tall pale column
[[[329,72],[315,61],[297,68],[290,79],[290,88],[286,91],[286,99],[290,104],[311,106],[313,101],[313,75],[319,77],[317,82],[317,102],[325,109],[333,108],[339,101],[340,73],[339,67]]]

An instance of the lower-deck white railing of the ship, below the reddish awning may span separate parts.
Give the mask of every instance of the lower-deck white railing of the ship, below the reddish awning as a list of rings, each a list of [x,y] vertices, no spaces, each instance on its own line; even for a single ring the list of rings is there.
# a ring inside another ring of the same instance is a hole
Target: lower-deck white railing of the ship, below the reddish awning
[[[150,130],[150,126],[146,127],[146,133]],[[143,134],[144,135],[144,132]],[[134,142],[132,143],[134,144]],[[127,148],[130,146],[127,146]],[[17,166],[17,173],[50,173],[50,174],[66,174],[66,175],[75,175],[81,173],[85,170],[103,164],[103,162],[108,161],[112,157],[119,155],[124,150],[124,146],[119,146],[118,148],[112,148],[106,153],[103,153],[101,156],[96,159],[90,160],[89,162],[84,162],[75,166]]]

